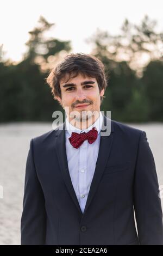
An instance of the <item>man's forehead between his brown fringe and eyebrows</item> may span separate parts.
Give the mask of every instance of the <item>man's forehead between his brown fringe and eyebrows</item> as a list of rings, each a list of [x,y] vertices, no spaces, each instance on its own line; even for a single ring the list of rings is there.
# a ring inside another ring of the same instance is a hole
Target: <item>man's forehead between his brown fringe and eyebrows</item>
[[[61,78],[60,85],[64,86],[65,83],[78,84],[78,83],[89,81],[89,80],[97,82],[95,77],[87,76],[84,74],[78,74],[76,77],[74,77],[73,74],[66,74],[63,78]]]

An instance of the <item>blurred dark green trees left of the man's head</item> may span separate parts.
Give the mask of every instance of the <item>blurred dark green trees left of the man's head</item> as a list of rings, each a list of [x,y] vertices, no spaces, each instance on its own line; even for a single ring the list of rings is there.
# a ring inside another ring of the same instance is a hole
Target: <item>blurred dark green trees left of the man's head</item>
[[[60,51],[70,51],[70,41],[45,39],[44,33],[53,24],[40,17],[40,27],[29,32],[28,51],[17,65],[0,62],[0,122],[50,121],[52,113],[61,106],[53,99],[45,83],[47,72],[41,72],[36,57],[48,63],[48,57]]]

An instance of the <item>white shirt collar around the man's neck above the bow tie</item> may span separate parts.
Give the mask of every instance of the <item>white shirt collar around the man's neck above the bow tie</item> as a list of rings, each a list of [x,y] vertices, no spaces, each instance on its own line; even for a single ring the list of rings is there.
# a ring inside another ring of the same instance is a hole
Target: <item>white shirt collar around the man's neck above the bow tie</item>
[[[93,127],[96,127],[96,129],[98,131],[98,135],[99,135],[99,132],[101,132],[101,129],[102,129],[102,124],[103,124],[103,115],[101,112],[99,112],[99,117],[95,121],[95,123],[92,124],[91,126],[89,126],[87,129],[83,129],[83,130],[80,130],[77,127],[70,124],[68,119],[66,118],[66,130],[70,136],[71,136],[72,132],[77,132],[77,133],[88,132],[88,131],[92,130]]]

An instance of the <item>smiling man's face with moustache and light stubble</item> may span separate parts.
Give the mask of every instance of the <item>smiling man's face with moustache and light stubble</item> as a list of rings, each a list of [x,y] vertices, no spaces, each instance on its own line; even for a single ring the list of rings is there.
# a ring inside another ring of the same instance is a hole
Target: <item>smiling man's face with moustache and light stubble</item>
[[[74,118],[70,113],[76,113],[76,121],[85,121],[85,118],[92,116],[92,112],[99,113],[104,89],[99,93],[96,78],[79,74],[67,81],[65,77],[60,81],[60,89],[61,99],[57,97],[57,100],[65,109],[69,121]]]

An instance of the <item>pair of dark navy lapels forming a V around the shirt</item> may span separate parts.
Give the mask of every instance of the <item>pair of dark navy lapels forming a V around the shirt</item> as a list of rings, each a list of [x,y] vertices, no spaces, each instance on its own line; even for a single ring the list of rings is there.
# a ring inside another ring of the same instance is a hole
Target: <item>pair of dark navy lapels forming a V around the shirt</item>
[[[66,143],[65,143],[65,123],[59,126],[55,136],[57,136],[55,141],[55,150],[58,156],[58,161],[60,164],[61,174],[65,181],[66,187],[68,192],[70,193],[70,196],[74,202],[74,204],[77,206],[79,212],[81,215],[84,215],[87,211],[87,208],[89,207],[91,200],[93,196],[95,195],[96,189],[98,187],[99,181],[101,180],[101,176],[104,172],[105,165],[108,161],[108,157],[110,154],[110,150],[112,147],[112,141],[113,141],[113,132],[114,127],[113,123],[110,119],[105,117],[103,115],[103,125],[102,125],[102,131],[105,130],[106,125],[111,125],[111,132],[108,136],[101,136],[100,144],[99,144],[99,152],[96,162],[96,168],[95,173],[93,175],[93,179],[91,182],[90,191],[87,197],[86,205],[84,212],[82,213],[80,209],[80,205],[76,196],[76,192],[74,191],[70,173],[68,170],[68,162],[67,162],[67,155],[66,155]]]

